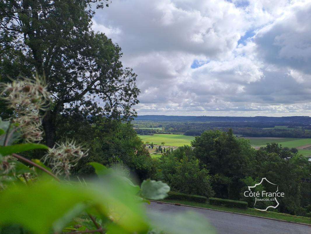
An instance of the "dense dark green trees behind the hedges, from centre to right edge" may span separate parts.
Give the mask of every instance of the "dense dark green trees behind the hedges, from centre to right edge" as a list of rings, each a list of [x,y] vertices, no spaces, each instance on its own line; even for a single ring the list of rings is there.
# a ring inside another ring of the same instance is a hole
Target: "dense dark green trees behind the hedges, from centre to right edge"
[[[310,185],[302,183],[301,178],[309,177],[310,162],[296,150],[276,143],[255,150],[248,140],[236,138],[232,131],[206,131],[196,137],[192,146],[195,148],[188,154],[197,157],[200,164],[209,169],[216,197],[241,199],[252,207],[254,198],[243,196],[246,186],[267,178],[285,193],[284,197],[278,198],[278,211],[295,215],[307,215],[309,212]],[[264,186],[258,190],[267,189],[269,185]]]

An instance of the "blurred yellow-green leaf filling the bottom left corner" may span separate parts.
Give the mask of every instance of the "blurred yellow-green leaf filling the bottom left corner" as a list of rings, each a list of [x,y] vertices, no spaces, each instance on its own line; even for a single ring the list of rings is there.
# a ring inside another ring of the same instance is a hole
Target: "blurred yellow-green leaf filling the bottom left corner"
[[[63,217],[86,197],[74,188],[57,183],[35,183],[15,186],[2,192],[0,224],[19,224],[33,233],[45,234],[53,223]],[[63,200],[63,201],[62,201]]]

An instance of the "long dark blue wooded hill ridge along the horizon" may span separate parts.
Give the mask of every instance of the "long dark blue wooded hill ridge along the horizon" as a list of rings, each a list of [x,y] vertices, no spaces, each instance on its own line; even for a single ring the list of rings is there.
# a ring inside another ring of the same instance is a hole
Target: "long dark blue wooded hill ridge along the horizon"
[[[177,121],[177,122],[279,122],[310,124],[309,116],[288,117],[231,117],[231,116],[177,116],[177,115],[138,115],[134,120],[140,121]]]

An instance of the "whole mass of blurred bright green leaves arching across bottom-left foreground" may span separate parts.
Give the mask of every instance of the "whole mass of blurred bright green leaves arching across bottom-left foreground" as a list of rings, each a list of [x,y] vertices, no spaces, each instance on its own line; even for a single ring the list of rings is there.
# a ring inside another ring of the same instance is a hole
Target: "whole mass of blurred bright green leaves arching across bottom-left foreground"
[[[51,180],[31,186],[16,184],[0,194],[0,226],[19,224],[34,234],[47,234],[61,230],[65,222],[59,220],[78,216],[83,210],[79,204],[87,204],[129,233],[146,232],[143,204],[133,191],[133,186],[117,176],[103,176],[87,185]]]

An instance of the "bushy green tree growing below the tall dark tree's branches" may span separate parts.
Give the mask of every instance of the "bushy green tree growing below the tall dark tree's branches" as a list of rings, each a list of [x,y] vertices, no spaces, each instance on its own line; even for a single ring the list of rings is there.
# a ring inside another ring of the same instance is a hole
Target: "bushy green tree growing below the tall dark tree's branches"
[[[133,125],[100,116],[86,118],[87,114],[85,112],[83,116],[78,110],[70,114],[64,111],[63,121],[58,123],[58,141],[75,139],[84,142],[90,149],[88,156],[74,169],[75,172],[81,175],[93,173],[94,169],[88,163],[98,162],[127,168],[140,181],[150,178],[155,166]]]

